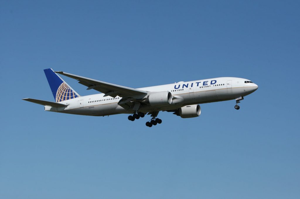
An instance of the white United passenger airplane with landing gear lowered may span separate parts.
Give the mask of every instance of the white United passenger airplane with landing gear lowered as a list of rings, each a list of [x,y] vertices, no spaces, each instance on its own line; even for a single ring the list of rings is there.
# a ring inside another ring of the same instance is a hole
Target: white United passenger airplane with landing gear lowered
[[[95,79],[77,76],[63,71],[44,70],[55,102],[24,98],[45,106],[45,111],[59,113],[109,116],[130,114],[128,120],[134,121],[146,114],[151,119],[146,126],[161,124],[157,118],[159,111],[173,112],[182,118],[198,117],[201,114],[199,104],[235,100],[235,109],[245,96],[257,90],[258,86],[248,79],[237,77],[219,77],[145,88],[129,88]],[[58,74],[76,79],[87,90],[101,93],[80,96]]]

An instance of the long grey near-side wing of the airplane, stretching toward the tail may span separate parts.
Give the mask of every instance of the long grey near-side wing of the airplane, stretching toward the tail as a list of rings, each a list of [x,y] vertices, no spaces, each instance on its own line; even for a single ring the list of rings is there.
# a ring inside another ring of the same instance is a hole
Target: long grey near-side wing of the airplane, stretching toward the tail
[[[136,95],[146,95],[147,91],[142,91],[134,88],[129,88],[125,86],[120,86],[116,84],[111,84],[107,82],[98,81],[95,79],[89,79],[82,76],[77,76],[69,73],[65,73],[63,71],[54,71],[55,73],[73,78],[78,80],[80,84],[87,86],[87,90],[89,89],[95,89],[96,91],[99,91],[101,93],[104,93],[105,96],[111,96],[111,97],[132,97]]]

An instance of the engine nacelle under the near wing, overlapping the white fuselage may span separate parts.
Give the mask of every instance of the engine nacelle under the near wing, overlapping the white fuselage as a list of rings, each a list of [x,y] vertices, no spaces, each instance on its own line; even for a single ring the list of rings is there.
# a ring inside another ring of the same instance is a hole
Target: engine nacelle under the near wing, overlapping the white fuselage
[[[161,91],[157,93],[150,93],[147,102],[151,106],[165,106],[172,104],[172,94],[169,91]]]

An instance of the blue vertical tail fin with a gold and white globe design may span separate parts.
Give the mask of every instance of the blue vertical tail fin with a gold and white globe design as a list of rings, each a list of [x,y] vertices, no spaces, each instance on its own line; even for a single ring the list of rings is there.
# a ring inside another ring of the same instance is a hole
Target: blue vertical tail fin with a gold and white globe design
[[[51,68],[44,70],[55,102],[70,100],[80,97],[63,79],[60,78]]]

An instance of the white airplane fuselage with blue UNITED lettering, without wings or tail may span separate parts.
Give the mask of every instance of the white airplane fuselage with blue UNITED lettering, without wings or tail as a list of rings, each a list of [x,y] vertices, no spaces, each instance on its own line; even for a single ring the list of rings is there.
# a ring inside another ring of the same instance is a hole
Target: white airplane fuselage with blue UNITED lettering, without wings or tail
[[[258,86],[254,83],[245,83],[248,79],[236,77],[219,77],[203,79],[189,82],[178,82],[167,85],[138,88],[148,92],[169,91],[173,98],[173,103],[161,107],[151,105],[142,106],[139,111],[167,111],[178,109],[185,105],[202,104],[209,102],[219,102],[233,100],[236,97],[244,97],[256,91]],[[55,108],[45,106],[46,111],[55,111],[68,114],[106,116],[113,114],[132,114],[133,108],[125,109],[118,105],[122,97],[104,97],[104,94],[94,94],[81,96],[60,103],[68,104],[67,107]]]

